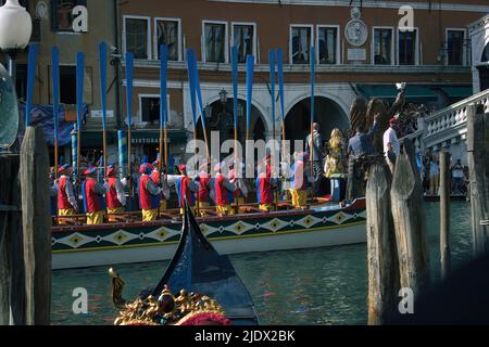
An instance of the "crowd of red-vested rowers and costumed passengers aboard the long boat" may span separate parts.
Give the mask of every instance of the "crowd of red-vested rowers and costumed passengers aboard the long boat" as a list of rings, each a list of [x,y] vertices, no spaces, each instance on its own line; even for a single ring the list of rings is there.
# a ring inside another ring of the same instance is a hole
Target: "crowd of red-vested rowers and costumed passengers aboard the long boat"
[[[103,170],[86,163],[86,169],[77,177],[80,181],[75,183],[72,181],[73,168],[63,165],[51,175],[53,216],[59,217],[61,224],[70,220],[70,216],[80,213],[86,215],[88,224],[115,221],[117,214],[129,209],[127,191],[134,197],[130,209],[140,209],[143,221],[153,221],[167,209],[172,190],[176,193],[180,214],[187,202],[200,216],[239,214],[243,211],[240,206],[252,201],[263,213],[276,210],[279,200],[290,200],[298,209],[308,207],[309,196],[351,202],[364,196],[372,163],[385,163],[393,174],[401,152],[399,139],[416,131],[418,118],[428,112],[424,105],[404,105],[402,91],[389,111],[378,100],[371,101],[368,107],[362,105],[358,102],[352,105],[354,129],[350,138],[335,128],[329,141],[324,142],[321,127],[314,123],[313,132],[305,139],[305,152],[294,153],[292,163],[281,163],[281,169],[285,167],[289,174],[287,180],[284,176],[275,178],[277,169],[272,166],[271,154],[256,165],[253,180],[238,175],[244,170],[244,165],[235,160],[204,162],[198,172],[189,176],[186,165],[176,166],[177,175],[167,175],[161,163],[150,164],[145,158],[142,163],[131,163],[131,174],[124,179],[120,179],[115,165],[110,165],[103,174]],[[373,112],[376,112],[375,116]],[[361,121],[355,123],[354,119]],[[418,167],[425,193],[437,195],[437,157],[427,154],[418,157]],[[105,177],[101,178],[101,172]],[[452,193],[466,194],[468,169],[459,159],[451,172]],[[256,200],[250,198],[253,191]],[[79,195],[83,196],[82,206],[78,206]]]

